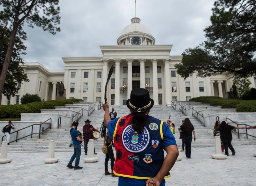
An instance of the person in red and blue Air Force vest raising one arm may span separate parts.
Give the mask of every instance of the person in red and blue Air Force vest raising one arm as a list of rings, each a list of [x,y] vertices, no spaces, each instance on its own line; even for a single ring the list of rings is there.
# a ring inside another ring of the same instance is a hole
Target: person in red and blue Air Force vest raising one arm
[[[179,155],[175,138],[167,124],[148,115],[154,105],[148,90],[133,89],[126,105],[131,114],[111,120],[108,103],[103,104],[116,150],[113,172],[119,176],[118,185],[165,185]]]

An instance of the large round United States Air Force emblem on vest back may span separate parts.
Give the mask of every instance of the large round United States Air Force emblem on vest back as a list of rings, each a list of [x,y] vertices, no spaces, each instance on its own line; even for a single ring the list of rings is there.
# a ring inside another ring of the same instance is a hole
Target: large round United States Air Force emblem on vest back
[[[132,127],[132,124],[129,124],[124,128],[122,133],[124,148],[131,153],[144,151],[148,147],[149,140],[149,132],[145,127],[143,132],[138,134]]]

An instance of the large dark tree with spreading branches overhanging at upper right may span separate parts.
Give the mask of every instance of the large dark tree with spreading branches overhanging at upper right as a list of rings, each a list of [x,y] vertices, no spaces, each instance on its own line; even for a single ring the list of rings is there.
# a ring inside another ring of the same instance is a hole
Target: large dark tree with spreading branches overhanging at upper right
[[[184,79],[196,72],[256,74],[256,0],[218,0],[212,12],[212,25],[204,29],[207,41],[183,52],[177,73]]]

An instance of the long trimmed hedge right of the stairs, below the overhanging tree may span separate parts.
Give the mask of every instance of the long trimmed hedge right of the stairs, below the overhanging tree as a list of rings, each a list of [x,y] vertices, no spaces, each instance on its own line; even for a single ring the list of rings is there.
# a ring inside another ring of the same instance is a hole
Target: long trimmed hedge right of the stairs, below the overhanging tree
[[[225,99],[214,96],[191,98],[190,101],[209,103],[222,108],[236,108],[237,112],[256,112],[256,100]]]

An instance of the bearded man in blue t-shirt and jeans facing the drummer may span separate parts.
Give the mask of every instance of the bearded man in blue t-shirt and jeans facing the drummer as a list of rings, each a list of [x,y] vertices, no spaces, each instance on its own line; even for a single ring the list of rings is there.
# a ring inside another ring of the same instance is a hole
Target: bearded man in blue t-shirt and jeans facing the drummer
[[[73,147],[74,147],[74,153],[67,165],[68,168],[71,169],[82,169],[83,167],[79,167],[79,162],[80,162],[80,155],[81,155],[81,145],[80,145],[80,141],[84,141],[84,139],[80,138],[78,136],[78,131],[77,131],[77,127],[78,127],[78,122],[74,121],[72,124],[72,128],[70,128],[70,136],[72,138],[73,141]],[[75,161],[75,166],[72,166],[73,161],[76,159]]]

